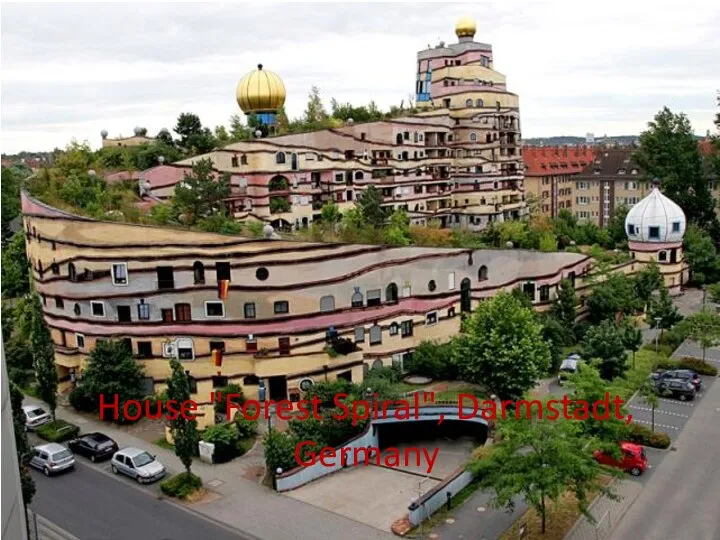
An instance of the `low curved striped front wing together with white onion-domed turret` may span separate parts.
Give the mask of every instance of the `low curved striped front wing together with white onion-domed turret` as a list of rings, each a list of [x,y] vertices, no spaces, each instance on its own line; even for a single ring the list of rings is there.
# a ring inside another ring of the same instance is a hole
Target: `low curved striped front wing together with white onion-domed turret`
[[[184,362],[201,425],[214,422],[213,388],[237,383],[252,398],[264,384],[270,398],[296,400],[313,381],[361,381],[372,367],[402,365],[423,340],[449,340],[462,314],[499,291],[522,287],[544,310],[561,279],[581,299],[593,283],[592,259],[570,252],[293,242],[271,239],[269,226],[251,239],[94,221],[25,193],[22,211],[62,388],[82,380],[98,340],[122,339],[148,393],[162,390],[169,357]],[[628,220],[635,258],[613,271],[656,260],[678,293],[682,211],[656,190]],[[330,350],[335,334],[347,341]]]

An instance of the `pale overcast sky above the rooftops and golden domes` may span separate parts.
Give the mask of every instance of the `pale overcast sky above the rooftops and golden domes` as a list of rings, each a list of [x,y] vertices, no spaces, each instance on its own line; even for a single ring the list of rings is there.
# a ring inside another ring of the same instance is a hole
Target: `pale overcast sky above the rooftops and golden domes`
[[[407,105],[417,51],[477,21],[520,96],[523,137],[627,135],[663,106],[714,129],[720,8],[645,0],[433,3],[38,4],[0,8],[0,149],[97,148],[111,137],[239,113],[235,87],[262,63],[299,116],[330,98]]]

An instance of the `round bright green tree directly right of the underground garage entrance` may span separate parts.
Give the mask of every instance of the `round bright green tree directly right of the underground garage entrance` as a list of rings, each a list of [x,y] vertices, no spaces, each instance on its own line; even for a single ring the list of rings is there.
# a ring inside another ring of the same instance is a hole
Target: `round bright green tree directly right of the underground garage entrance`
[[[453,347],[464,380],[517,399],[550,366],[550,348],[532,309],[507,293],[482,302]]]

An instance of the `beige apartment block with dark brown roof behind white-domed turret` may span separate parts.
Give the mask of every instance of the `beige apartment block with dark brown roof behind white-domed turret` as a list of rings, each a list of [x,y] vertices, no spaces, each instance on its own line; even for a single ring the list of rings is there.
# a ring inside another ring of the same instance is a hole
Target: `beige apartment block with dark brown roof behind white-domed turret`
[[[632,160],[634,148],[595,148],[595,157],[574,177],[574,214],[580,222],[607,227],[615,208],[633,206],[651,191]]]

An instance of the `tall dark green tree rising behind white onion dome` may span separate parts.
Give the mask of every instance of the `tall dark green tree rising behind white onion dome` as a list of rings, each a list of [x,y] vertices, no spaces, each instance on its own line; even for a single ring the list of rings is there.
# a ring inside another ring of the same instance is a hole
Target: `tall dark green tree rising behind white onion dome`
[[[688,220],[706,230],[716,223],[697,139],[686,115],[664,107],[640,134],[634,159],[648,180],[662,181],[664,194],[680,205]]]

